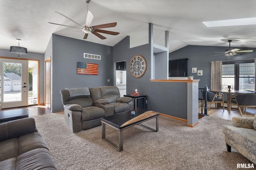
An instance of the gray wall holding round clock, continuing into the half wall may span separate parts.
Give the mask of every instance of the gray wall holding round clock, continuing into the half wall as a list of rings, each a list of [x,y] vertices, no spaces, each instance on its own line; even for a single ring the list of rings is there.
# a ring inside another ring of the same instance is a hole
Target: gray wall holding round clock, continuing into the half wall
[[[127,94],[138,89],[140,94],[147,95],[147,109],[187,119],[187,84],[170,82],[151,82],[150,44],[129,48],[129,37],[124,38],[113,47],[113,62],[126,62]],[[130,59],[134,55],[142,55],[146,59],[146,72],[140,78],[134,78],[129,72]],[[159,67],[156,67],[158,72]],[[165,71],[165,78],[166,78]],[[178,99],[178,100],[177,100]]]

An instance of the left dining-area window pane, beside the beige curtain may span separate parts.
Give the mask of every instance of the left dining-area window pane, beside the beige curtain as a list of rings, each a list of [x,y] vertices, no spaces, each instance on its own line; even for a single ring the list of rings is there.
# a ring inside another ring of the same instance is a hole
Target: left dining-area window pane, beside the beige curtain
[[[228,90],[228,86],[234,90],[235,84],[235,64],[222,65],[222,89]]]

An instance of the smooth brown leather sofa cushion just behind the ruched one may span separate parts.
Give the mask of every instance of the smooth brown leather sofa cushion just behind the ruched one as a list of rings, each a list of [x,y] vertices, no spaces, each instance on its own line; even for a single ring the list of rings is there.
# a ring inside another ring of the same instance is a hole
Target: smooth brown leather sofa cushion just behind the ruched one
[[[18,138],[19,154],[23,154],[29,150],[37,148],[48,149],[43,137],[39,132],[29,133]]]

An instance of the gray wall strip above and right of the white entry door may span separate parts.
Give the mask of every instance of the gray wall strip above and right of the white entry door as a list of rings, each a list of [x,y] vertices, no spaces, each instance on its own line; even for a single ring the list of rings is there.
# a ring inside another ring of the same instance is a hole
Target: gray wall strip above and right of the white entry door
[[[28,49],[29,50],[29,49]],[[0,49],[0,56],[1,57],[10,57],[10,58],[17,58],[17,54],[10,53],[10,49]],[[22,59],[35,59],[40,61],[40,80],[39,80],[39,88],[40,88],[40,104],[44,104],[44,54],[41,53],[30,53],[28,52],[27,55],[20,55]]]

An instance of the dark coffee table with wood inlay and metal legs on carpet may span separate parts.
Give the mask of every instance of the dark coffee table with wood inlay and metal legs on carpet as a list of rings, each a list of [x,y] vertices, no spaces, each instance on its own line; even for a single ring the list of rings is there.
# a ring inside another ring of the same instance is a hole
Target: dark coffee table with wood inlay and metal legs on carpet
[[[158,118],[159,113],[155,111],[148,111],[146,109],[134,109],[135,116],[131,115],[131,111],[114,114],[111,116],[101,118],[102,123],[102,140],[114,147],[119,152],[123,150],[124,134],[123,130],[134,125],[140,125],[152,131],[158,132]],[[156,118],[156,129],[142,125],[140,123]],[[109,139],[106,139],[106,125],[113,127],[119,131],[119,145],[114,144]]]

